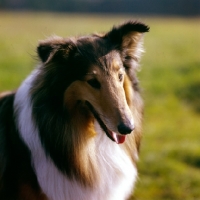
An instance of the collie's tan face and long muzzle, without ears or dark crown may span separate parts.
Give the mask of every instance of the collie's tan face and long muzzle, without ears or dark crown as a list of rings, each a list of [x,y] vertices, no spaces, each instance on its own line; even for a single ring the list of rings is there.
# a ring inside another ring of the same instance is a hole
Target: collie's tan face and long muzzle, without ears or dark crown
[[[134,129],[123,87],[125,76],[120,55],[111,51],[92,63],[83,78],[65,91],[66,107],[74,108],[77,102],[88,106],[108,137],[117,143]]]

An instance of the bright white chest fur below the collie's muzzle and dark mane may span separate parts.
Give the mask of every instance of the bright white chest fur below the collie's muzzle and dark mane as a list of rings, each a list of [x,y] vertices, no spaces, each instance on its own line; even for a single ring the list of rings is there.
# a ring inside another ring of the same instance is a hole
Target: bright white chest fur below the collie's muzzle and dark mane
[[[105,134],[97,140],[102,143],[96,141],[101,180],[93,189],[84,188],[76,180],[69,180],[38,146],[33,163],[40,186],[50,200],[125,200],[128,197],[137,175],[136,169],[120,147]]]

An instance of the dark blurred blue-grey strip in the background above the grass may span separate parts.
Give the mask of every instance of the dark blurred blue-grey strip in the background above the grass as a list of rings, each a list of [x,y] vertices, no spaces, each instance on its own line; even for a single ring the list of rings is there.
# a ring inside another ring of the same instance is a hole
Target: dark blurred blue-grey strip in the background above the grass
[[[194,16],[200,12],[199,0],[1,0],[9,9],[48,10],[89,13],[174,14]]]

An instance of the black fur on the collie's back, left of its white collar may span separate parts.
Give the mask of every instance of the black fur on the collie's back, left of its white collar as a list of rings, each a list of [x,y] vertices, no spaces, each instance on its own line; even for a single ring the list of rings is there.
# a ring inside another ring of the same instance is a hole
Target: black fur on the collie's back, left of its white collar
[[[37,178],[31,166],[30,152],[15,126],[13,102],[15,94],[0,99],[0,199],[24,199],[22,187],[40,196]],[[35,198],[37,199],[37,198]]]

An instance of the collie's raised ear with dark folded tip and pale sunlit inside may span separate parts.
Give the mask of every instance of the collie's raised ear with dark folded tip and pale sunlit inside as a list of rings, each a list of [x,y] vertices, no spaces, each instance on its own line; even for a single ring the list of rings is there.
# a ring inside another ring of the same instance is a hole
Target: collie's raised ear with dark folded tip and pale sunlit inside
[[[149,27],[140,22],[128,21],[108,32],[108,37],[116,49],[120,51],[124,66],[127,68],[135,66],[135,62],[143,52],[143,33],[148,32]]]

